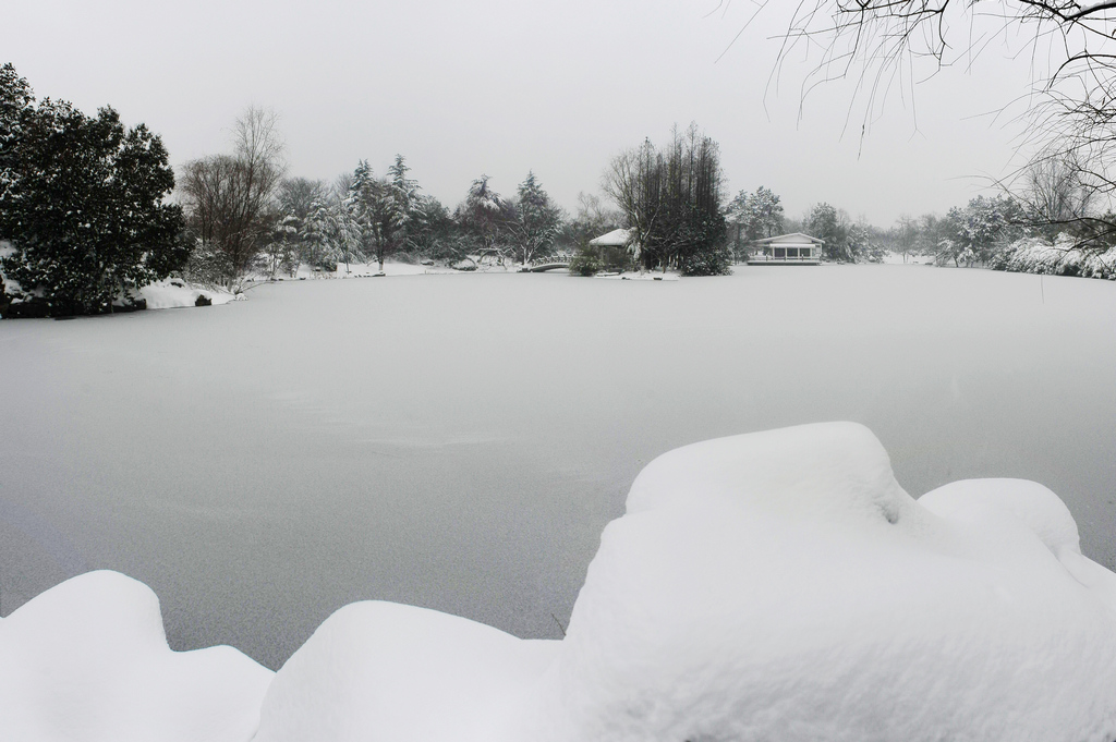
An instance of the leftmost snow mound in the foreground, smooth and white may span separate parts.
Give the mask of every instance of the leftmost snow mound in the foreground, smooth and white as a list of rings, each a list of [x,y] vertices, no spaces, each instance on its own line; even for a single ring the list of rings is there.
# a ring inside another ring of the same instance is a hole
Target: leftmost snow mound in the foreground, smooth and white
[[[0,620],[0,738],[246,742],[271,677],[232,647],[172,652],[150,588],[89,572]]]

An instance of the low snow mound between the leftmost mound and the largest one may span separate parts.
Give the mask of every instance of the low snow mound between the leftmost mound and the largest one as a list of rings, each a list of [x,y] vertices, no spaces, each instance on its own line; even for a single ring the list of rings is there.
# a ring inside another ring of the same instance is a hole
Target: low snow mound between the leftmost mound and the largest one
[[[559,644],[424,608],[352,604],[276,675],[256,742],[490,740]]]

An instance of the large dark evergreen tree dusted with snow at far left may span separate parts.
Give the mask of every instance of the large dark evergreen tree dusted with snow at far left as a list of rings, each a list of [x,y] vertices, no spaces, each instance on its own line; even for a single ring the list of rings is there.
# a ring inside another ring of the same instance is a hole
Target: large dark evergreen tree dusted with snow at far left
[[[182,211],[163,199],[174,172],[157,136],[90,118],[65,102],[33,105],[12,66],[0,71],[0,261],[47,315],[113,311],[131,290],[181,268]],[[15,306],[15,305],[13,305]]]

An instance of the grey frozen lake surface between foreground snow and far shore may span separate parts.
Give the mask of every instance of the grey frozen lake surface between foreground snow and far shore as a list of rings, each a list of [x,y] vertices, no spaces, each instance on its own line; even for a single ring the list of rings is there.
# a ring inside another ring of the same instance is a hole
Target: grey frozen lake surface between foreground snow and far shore
[[[302,281],[0,322],[0,614],[95,568],[278,667],[376,598],[557,637],[651,459],[866,424],[917,497],[1066,500],[1116,567],[1116,285],[921,266]]]

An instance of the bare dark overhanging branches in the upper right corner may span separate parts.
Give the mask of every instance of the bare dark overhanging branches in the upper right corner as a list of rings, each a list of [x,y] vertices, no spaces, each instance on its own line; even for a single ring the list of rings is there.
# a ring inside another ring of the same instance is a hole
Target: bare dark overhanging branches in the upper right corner
[[[1105,215],[1116,195],[1116,2],[802,0],[793,8],[780,62],[795,49],[820,51],[804,96],[817,85],[852,78],[849,114],[863,108],[862,135],[896,86],[910,87],[960,59],[971,62],[993,41],[1029,56],[1032,85],[1019,91],[1026,100],[1023,162],[999,185],[1037,199],[1035,213],[1054,223],[1068,216],[1091,234],[1116,234],[1116,218]],[[1051,186],[1068,189],[1062,195],[1071,199],[1051,202],[1061,197]]]

